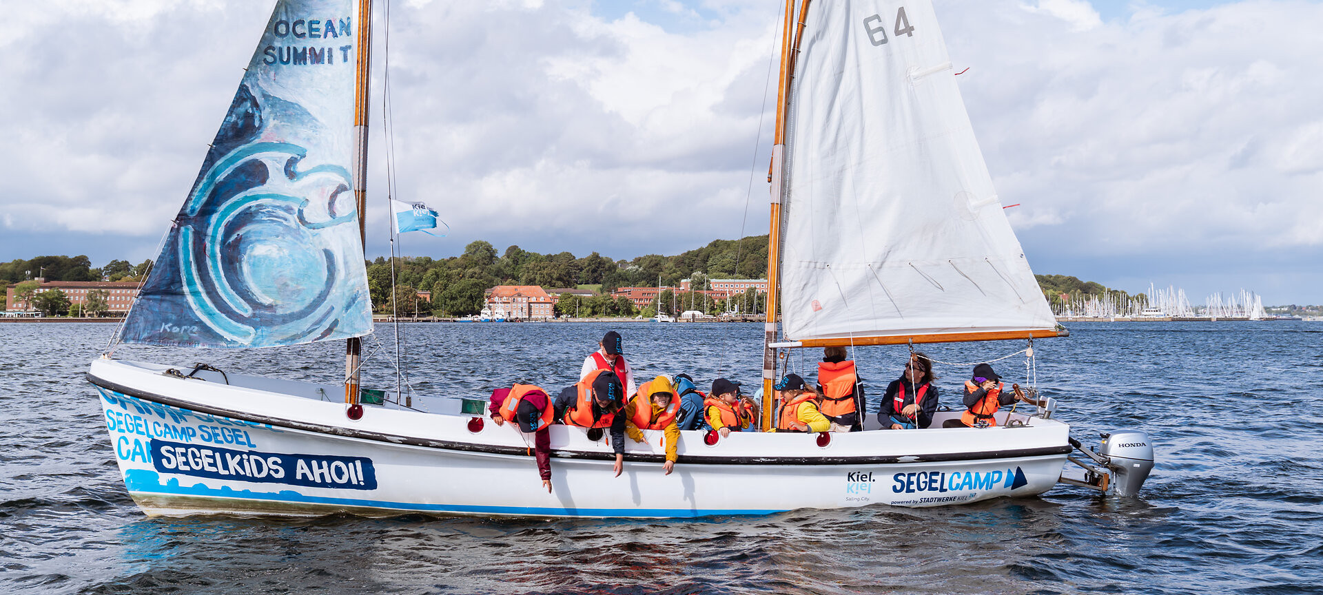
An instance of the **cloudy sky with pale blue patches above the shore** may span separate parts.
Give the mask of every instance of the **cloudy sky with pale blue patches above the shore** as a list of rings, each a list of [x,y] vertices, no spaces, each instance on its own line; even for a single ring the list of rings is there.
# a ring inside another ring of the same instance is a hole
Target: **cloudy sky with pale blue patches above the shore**
[[[0,260],[155,258],[271,5],[8,7]],[[369,257],[389,251],[388,189],[451,227],[405,235],[405,255],[486,239],[634,258],[766,233],[781,5],[394,0],[389,37],[378,9]],[[1035,272],[1323,303],[1323,4],[934,5]]]

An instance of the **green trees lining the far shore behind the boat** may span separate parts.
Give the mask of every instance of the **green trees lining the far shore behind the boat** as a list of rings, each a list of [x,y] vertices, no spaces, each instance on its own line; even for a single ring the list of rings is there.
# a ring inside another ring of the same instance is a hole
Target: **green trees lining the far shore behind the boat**
[[[681,279],[691,279],[695,290],[701,290],[706,279],[765,279],[767,275],[767,235],[744,239],[717,239],[700,249],[677,255],[648,254],[634,259],[613,259],[598,253],[577,258],[570,253],[540,254],[509,246],[497,251],[490,242],[475,241],[463,254],[434,259],[430,257],[398,257],[394,262],[396,295],[390,295],[392,267],[385,257],[368,263],[368,287],[377,312],[397,312],[400,316],[468,316],[484,304],[484,294],[495,286],[541,286],[546,290],[590,288],[593,298],[562,294],[556,313],[577,316],[651,316],[652,308],[639,311],[628,299],[611,298],[620,287],[675,288]],[[132,264],[110,260],[99,268],[91,259],[79,257],[37,257],[0,263],[0,283],[17,284],[34,278],[48,282],[140,282],[152,262]],[[1062,303],[1081,298],[1143,299],[1143,294],[1126,294],[1093,282],[1082,282],[1066,275],[1036,275],[1048,301],[1056,309]],[[430,304],[418,298],[419,291],[431,294]],[[742,311],[765,312],[761,295],[749,290],[741,300]],[[392,300],[394,298],[394,300]],[[717,313],[728,309],[725,300],[706,299],[703,294],[679,290],[662,292],[660,313],[675,315],[689,309],[691,304],[705,304],[699,309]],[[675,304],[675,307],[672,307]],[[430,311],[429,311],[430,308]]]

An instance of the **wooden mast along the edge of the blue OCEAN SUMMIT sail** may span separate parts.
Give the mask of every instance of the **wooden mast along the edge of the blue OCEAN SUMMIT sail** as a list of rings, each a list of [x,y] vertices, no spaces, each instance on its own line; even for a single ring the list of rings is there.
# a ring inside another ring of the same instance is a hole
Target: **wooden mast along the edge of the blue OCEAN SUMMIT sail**
[[[353,87],[353,200],[359,209],[359,238],[368,251],[368,85],[372,75],[372,0],[359,0],[357,77]],[[344,348],[344,401],[359,403],[359,366],[363,341],[352,337]]]

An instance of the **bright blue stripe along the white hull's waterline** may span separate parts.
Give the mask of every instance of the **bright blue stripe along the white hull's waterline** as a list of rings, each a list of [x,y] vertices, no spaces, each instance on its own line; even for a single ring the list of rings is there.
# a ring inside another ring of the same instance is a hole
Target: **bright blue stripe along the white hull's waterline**
[[[782,509],[662,509],[662,508],[542,508],[542,506],[483,506],[467,504],[418,504],[392,502],[385,500],[340,498],[327,496],[306,496],[292,491],[278,493],[232,489],[229,487],[210,488],[202,484],[183,487],[172,479],[160,483],[153,471],[128,469],[124,487],[132,495],[189,496],[225,500],[259,500],[267,502],[312,504],[325,506],[376,508],[381,510],[429,512],[455,514],[511,514],[528,517],[706,517],[736,514],[771,514]],[[291,510],[291,513],[295,510]]]

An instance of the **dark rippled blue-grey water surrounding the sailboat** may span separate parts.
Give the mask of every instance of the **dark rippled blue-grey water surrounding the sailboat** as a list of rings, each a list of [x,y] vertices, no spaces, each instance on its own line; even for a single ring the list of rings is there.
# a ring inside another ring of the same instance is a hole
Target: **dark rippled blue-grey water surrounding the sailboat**
[[[574,381],[595,324],[406,325],[415,390],[486,394]],[[689,372],[754,382],[761,324],[623,324],[638,378]],[[393,338],[368,385],[392,385]],[[1142,498],[1057,487],[1039,498],[939,509],[872,506],[704,521],[406,516],[273,521],[147,518],[115,467],[87,361],[106,324],[0,324],[0,588],[7,592],[1323,592],[1323,324],[1080,323],[1039,341],[1058,418],[1138,427],[1158,444]],[[1021,345],[933,345],[967,362]],[[341,345],[116,356],[335,378]],[[808,354],[812,364],[812,354]],[[864,348],[873,382],[904,348]],[[796,358],[798,361],[798,358]],[[1023,357],[996,364],[1023,381]],[[943,403],[967,376],[938,366]],[[553,461],[554,465],[554,461]],[[512,488],[515,489],[515,488]]]

